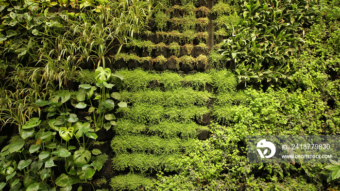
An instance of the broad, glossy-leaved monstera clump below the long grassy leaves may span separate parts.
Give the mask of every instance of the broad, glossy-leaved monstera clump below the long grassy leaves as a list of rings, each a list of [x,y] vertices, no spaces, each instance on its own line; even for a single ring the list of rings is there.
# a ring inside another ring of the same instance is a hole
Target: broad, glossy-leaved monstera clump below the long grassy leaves
[[[43,127],[37,117],[30,119],[20,130],[22,140],[6,145],[0,152],[0,174],[6,181],[0,182],[0,190],[26,191],[71,191],[72,185],[88,183],[96,171],[102,169],[102,161],[92,158],[101,154],[99,149],[89,150],[93,141],[98,138],[96,131],[102,127],[108,130],[116,125],[113,109],[117,92],[109,95],[114,84],[107,83],[111,76],[108,68],[99,67],[95,71],[96,86],[80,85],[77,100],[72,100],[76,109],[88,109],[87,122],[81,122],[75,113],[70,113],[66,102],[70,93],[56,91],[48,101],[38,99],[38,106],[49,106],[47,117],[57,117],[48,121],[49,127]],[[91,101],[91,97],[94,96]],[[89,104],[85,103],[86,101]],[[98,102],[98,108],[92,104]],[[116,101],[118,102],[118,101]],[[119,107],[126,107],[119,102]],[[58,167],[57,165],[58,164]],[[64,166],[65,172],[59,174],[56,168]],[[81,187],[81,186],[80,186]],[[79,189],[78,189],[79,190]]]

